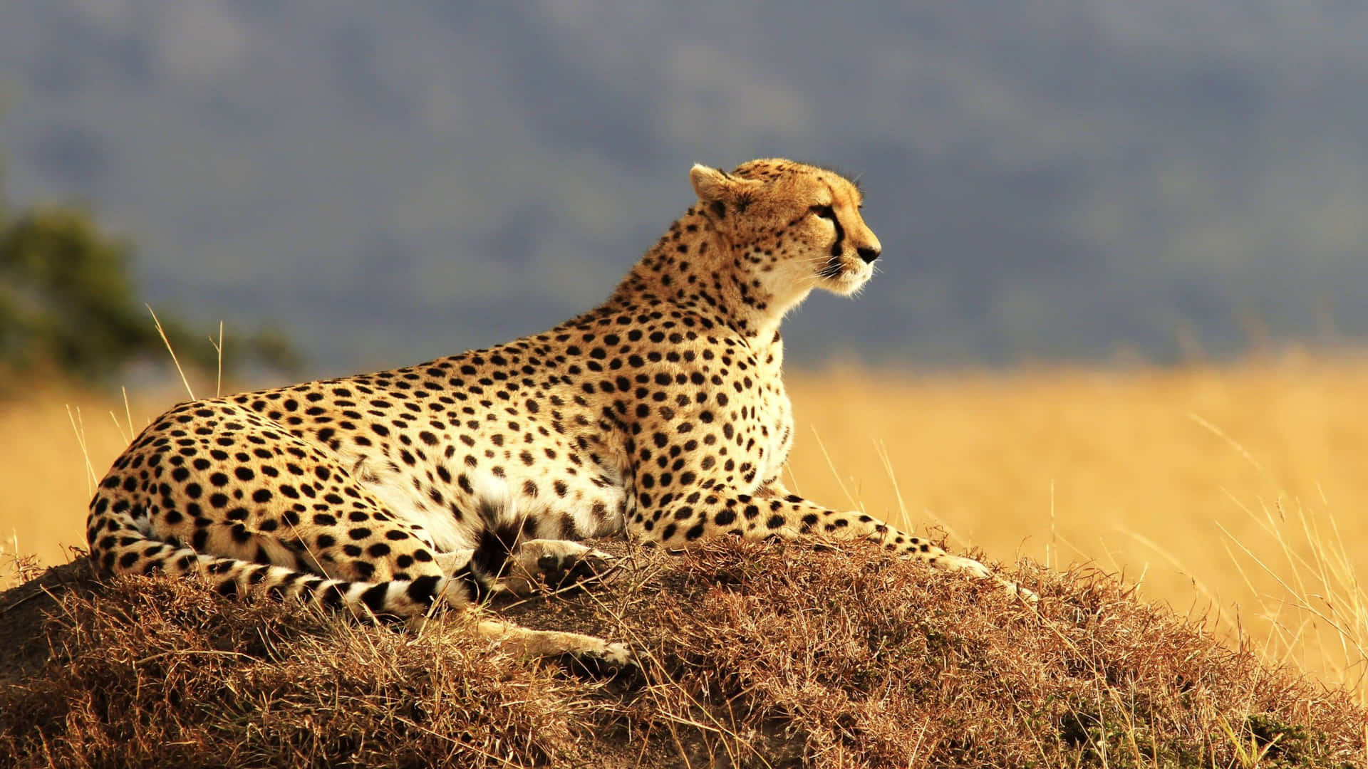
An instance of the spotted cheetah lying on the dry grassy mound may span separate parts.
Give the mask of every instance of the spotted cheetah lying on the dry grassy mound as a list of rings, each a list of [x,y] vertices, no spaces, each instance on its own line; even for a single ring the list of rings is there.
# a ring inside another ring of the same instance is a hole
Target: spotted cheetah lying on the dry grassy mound
[[[997,579],[780,483],[793,416],[778,326],[813,289],[850,296],[873,275],[860,189],[782,159],[689,181],[698,201],[607,301],[546,333],[171,408],[90,502],[94,564],[399,618],[592,579],[609,558],[583,540],[605,536],[865,538]],[[476,625],[532,655],[629,654]]]

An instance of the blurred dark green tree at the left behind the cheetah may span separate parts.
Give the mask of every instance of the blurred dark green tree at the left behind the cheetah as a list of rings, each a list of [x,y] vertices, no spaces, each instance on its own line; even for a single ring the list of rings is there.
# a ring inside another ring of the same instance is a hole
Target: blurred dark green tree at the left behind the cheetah
[[[79,208],[41,207],[14,218],[0,208],[0,369],[98,382],[135,360],[164,356],[133,286],[131,253]],[[219,365],[213,345],[183,320],[159,319],[183,363]],[[223,354],[226,367],[249,361],[289,369],[298,356],[280,333],[263,328]]]

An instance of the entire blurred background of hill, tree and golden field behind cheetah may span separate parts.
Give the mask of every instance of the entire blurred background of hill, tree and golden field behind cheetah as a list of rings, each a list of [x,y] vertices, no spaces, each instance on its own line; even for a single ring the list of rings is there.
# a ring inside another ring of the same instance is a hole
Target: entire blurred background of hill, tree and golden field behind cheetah
[[[885,249],[785,327],[792,487],[1368,702],[1368,5],[733,5],[0,0],[0,584],[186,397],[144,302],[198,395],[412,364],[777,155]],[[261,367],[216,379],[219,322]]]

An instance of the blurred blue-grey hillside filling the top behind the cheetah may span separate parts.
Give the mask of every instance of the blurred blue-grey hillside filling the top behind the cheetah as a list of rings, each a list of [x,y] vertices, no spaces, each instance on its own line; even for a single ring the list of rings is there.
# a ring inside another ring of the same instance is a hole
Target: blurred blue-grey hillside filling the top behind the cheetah
[[[19,201],[140,248],[152,302],[323,369],[603,298],[692,161],[860,174],[885,246],[796,360],[1166,361],[1368,334],[1368,7],[1274,0],[383,7],[0,0]]]

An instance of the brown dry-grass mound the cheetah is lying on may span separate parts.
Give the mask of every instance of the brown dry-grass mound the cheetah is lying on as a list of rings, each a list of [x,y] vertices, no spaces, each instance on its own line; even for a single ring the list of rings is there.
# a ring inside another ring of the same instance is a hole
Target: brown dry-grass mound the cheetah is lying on
[[[581,680],[423,632],[83,565],[0,595],[0,765],[1356,766],[1343,692],[1097,575],[1033,609],[871,547],[625,549],[611,584],[498,610],[644,650]]]

